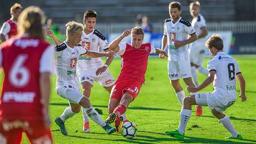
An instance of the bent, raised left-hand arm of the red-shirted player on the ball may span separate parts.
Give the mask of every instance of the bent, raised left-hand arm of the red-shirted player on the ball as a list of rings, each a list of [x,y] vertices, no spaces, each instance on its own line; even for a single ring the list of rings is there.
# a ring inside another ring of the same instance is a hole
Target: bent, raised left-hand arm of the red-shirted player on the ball
[[[131,33],[131,29],[126,29],[124,31],[124,33],[122,33],[122,35],[120,35],[118,38],[116,38],[115,40],[113,40],[109,44],[109,49],[114,51],[114,52],[119,52],[119,50],[120,50],[120,47],[119,47],[120,42],[122,41],[122,39],[127,37],[130,33]]]

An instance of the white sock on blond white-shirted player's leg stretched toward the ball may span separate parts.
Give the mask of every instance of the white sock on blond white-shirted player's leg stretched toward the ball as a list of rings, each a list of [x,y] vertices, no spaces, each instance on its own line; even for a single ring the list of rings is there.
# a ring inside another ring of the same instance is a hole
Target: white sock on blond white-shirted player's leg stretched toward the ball
[[[83,109],[83,111],[85,111],[88,117],[96,122],[96,124],[100,125],[101,127],[106,126],[106,123],[101,119],[99,113],[95,109],[93,109],[92,106]]]

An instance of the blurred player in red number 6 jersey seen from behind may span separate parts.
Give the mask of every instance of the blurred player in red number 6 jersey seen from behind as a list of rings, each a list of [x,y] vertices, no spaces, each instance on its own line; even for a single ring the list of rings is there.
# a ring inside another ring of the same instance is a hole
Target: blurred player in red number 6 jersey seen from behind
[[[44,14],[28,7],[18,19],[18,36],[0,45],[4,71],[0,101],[0,143],[52,143],[48,105],[53,46],[46,42]]]

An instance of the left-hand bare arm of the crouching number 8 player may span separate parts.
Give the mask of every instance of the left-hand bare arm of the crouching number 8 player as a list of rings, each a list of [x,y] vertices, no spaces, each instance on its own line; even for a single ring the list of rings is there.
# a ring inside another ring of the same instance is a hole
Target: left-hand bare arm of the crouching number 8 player
[[[211,70],[208,74],[208,78],[206,78],[202,84],[200,84],[197,87],[189,86],[187,90],[189,92],[197,92],[197,91],[204,89],[206,86],[208,86],[209,84],[211,84],[213,82],[215,73],[216,73],[215,70]]]

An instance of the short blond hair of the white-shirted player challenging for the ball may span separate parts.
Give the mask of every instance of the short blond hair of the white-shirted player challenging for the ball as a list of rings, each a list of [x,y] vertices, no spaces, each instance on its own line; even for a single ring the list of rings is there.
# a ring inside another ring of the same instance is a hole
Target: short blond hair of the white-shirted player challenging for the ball
[[[75,21],[70,21],[66,25],[66,35],[68,34],[74,34],[77,32],[81,32],[83,30],[83,24],[75,22]]]

